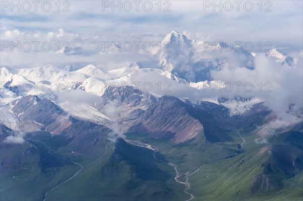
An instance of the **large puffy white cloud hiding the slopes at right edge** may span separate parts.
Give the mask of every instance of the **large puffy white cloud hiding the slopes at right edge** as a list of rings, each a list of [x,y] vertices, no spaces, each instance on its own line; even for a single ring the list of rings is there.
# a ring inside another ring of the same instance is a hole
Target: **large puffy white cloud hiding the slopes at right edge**
[[[215,80],[224,82],[254,83],[256,90],[240,93],[240,95],[263,99],[264,104],[272,109],[278,118],[295,123],[301,121],[302,114],[300,113],[303,107],[303,53],[297,52],[296,55],[295,64],[292,67],[276,63],[260,53],[255,58],[254,70],[224,66],[221,71],[212,71],[211,75]],[[260,85],[257,86],[259,83],[262,83],[262,89]],[[267,87],[270,87],[268,92]]]

